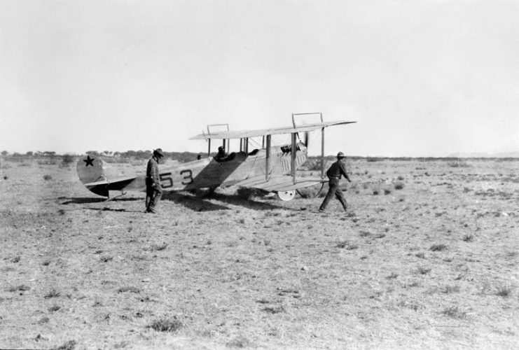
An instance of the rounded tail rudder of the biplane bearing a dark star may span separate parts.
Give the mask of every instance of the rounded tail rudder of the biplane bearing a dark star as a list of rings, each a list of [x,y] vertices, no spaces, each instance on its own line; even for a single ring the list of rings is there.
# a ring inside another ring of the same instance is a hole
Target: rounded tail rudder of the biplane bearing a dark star
[[[109,197],[108,185],[105,174],[105,162],[101,158],[87,158],[78,160],[76,165],[79,179],[88,190],[96,195]]]

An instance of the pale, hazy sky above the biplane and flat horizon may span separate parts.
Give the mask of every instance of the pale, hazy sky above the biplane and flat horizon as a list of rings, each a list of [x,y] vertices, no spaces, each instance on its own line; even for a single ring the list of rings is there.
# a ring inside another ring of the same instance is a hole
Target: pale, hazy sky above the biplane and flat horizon
[[[327,154],[519,151],[519,1],[0,0],[2,150],[201,151],[314,111],[358,122]]]

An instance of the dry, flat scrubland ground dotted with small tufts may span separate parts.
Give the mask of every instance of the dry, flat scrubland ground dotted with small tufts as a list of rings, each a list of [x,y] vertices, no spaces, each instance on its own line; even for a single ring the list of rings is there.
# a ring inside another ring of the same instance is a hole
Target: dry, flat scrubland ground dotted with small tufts
[[[519,161],[348,165],[350,214],[227,188],[153,215],[2,160],[0,348],[516,348]]]

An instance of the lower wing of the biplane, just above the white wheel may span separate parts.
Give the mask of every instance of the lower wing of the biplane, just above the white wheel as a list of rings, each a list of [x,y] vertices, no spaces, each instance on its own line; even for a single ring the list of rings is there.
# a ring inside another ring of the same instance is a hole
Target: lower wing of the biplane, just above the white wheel
[[[314,186],[324,182],[328,182],[328,180],[305,177],[296,179],[296,183],[294,183],[293,178],[290,175],[272,175],[270,179],[266,181],[264,175],[258,175],[240,181],[239,183],[236,183],[236,186],[259,188],[260,190],[268,190],[272,192],[298,190],[299,188]]]

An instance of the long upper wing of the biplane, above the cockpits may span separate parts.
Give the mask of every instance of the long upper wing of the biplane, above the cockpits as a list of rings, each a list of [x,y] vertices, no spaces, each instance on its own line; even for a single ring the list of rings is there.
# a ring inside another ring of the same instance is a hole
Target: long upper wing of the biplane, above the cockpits
[[[274,134],[291,134],[293,132],[311,132],[322,127],[331,127],[333,125],[351,124],[357,122],[347,122],[345,120],[338,120],[335,122],[323,122],[314,123],[307,125],[300,125],[298,127],[273,127],[271,129],[260,129],[260,130],[241,130],[241,131],[221,131],[208,134],[199,134],[191,137],[190,140],[203,140],[203,139],[242,139],[244,137],[258,137],[263,135],[274,135]]]

